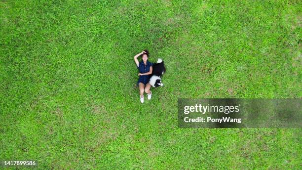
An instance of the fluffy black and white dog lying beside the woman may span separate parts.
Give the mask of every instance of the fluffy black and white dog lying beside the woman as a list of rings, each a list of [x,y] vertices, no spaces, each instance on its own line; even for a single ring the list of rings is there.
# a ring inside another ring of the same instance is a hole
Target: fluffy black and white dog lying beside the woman
[[[157,62],[153,64],[152,68],[153,70],[149,81],[150,85],[152,85],[152,87],[163,86],[163,84],[161,83],[161,77],[166,72],[163,61],[158,58]]]

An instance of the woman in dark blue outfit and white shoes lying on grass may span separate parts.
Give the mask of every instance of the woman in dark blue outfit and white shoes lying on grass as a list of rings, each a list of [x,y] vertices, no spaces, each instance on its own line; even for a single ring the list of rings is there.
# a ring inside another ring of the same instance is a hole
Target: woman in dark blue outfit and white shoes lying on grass
[[[142,61],[139,62],[137,57],[142,55]],[[140,88],[140,94],[141,94],[141,102],[144,103],[144,91],[148,94],[148,100],[151,99],[151,85],[149,84],[150,75],[152,74],[152,63],[148,61],[149,51],[145,49],[139,54],[136,54],[134,56],[135,64],[137,65],[137,68],[139,69],[139,80],[137,81],[137,84]]]

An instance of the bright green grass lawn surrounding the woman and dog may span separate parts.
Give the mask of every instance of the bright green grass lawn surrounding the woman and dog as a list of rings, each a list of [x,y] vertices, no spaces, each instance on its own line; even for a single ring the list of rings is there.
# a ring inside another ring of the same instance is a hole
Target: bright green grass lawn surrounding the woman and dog
[[[179,128],[177,102],[301,98],[301,6],[0,0],[0,160],[37,160],[41,170],[300,169],[301,128]],[[167,72],[142,104],[133,56],[143,49]]]

